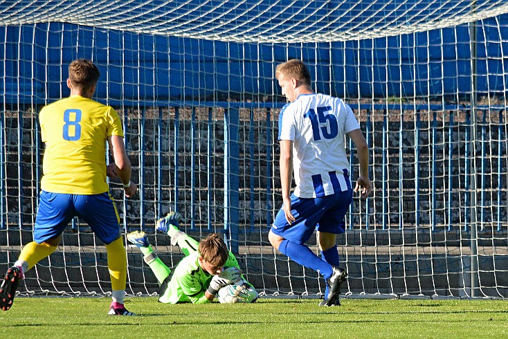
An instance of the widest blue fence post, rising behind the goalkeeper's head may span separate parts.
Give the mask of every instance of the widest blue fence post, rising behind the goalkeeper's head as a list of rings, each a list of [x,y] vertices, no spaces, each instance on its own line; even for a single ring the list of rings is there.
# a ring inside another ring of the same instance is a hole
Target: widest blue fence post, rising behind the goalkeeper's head
[[[226,244],[235,254],[239,249],[238,124],[238,109],[224,109],[224,230]]]

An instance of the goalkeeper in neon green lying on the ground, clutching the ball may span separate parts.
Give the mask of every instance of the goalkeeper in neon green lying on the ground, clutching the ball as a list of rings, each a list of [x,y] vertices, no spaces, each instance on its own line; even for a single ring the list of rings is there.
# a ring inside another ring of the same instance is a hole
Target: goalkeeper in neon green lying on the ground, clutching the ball
[[[161,286],[158,301],[165,304],[203,304],[211,302],[221,287],[236,284],[243,286],[238,302],[255,302],[257,292],[242,277],[235,255],[228,250],[221,237],[212,234],[198,243],[179,230],[179,219],[180,213],[171,212],[156,223],[156,229],[167,233],[171,237],[171,244],[178,245],[185,255],[172,275],[171,269],[157,257],[150,246],[145,232],[134,231],[127,235],[127,241],[141,250],[145,263],[152,269]]]

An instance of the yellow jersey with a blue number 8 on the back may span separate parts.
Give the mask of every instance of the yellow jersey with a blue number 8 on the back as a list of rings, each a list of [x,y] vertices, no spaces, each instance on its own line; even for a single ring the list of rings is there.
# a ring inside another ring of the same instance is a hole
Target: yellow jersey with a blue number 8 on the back
[[[71,95],[44,107],[39,122],[46,143],[42,190],[64,194],[108,192],[107,138],[123,137],[120,117],[113,107]]]

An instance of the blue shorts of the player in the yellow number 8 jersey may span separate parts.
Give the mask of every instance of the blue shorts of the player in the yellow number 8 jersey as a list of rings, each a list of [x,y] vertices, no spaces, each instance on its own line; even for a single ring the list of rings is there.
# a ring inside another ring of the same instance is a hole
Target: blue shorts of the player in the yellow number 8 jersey
[[[91,230],[106,245],[120,237],[120,217],[109,192],[81,195],[41,191],[34,241],[42,244],[58,237],[73,217],[87,221]]]

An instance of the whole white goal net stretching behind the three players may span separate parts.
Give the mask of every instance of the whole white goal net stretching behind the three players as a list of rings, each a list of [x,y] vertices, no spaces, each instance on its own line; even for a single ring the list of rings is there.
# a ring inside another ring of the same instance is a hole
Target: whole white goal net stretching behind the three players
[[[100,68],[94,99],[123,120],[140,188],[124,199],[111,182],[123,230],[145,230],[170,268],[183,254],[154,224],[176,210],[192,237],[224,235],[262,295],[323,295],[323,278],[267,239],[282,203],[273,75],[300,58],[315,91],[350,104],[370,146],[374,192],[355,197],[338,237],[343,291],[508,297],[506,1],[1,1],[1,272],[33,239],[38,112],[69,95],[79,57]],[[318,253],[315,237],[308,245]],[[127,293],[157,293],[126,246]],[[110,288],[105,246],[75,219],[20,292]]]

